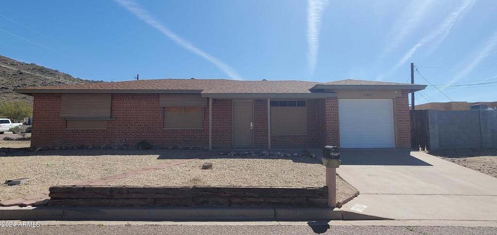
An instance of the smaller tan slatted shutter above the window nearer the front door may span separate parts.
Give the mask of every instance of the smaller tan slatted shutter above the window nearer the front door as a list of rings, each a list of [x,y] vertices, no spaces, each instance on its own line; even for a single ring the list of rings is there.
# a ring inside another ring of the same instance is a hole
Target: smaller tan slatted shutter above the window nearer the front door
[[[207,107],[207,98],[200,94],[161,94],[161,107]]]

